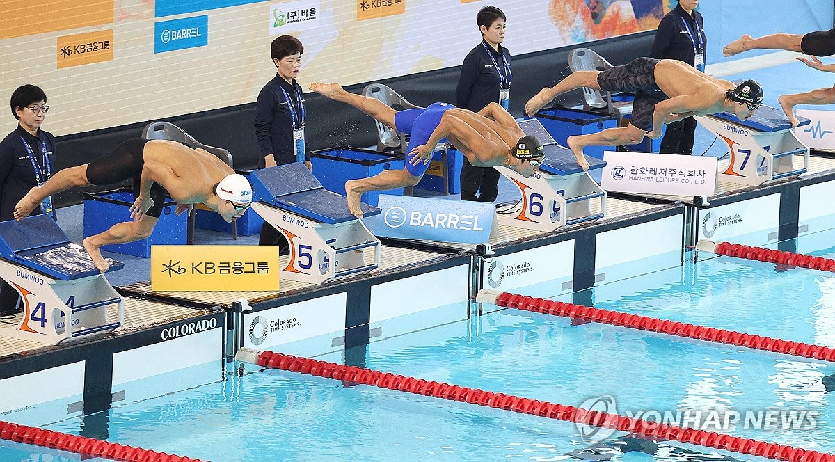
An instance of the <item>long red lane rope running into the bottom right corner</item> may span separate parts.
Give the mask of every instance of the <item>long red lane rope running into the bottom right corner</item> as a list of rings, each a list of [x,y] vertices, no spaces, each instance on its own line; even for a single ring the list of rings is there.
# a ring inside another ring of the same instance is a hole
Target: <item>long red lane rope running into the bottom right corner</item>
[[[316,359],[297,358],[295,356],[259,352],[256,364],[266,368],[276,368],[296,373],[306,373],[317,377],[334,378],[353,383],[363,383],[374,387],[399,390],[407,393],[433,396],[463,403],[478,404],[488,408],[504,409],[524,414],[538,415],[549,419],[559,419],[577,424],[593,425],[607,429],[638,434],[645,438],[676,440],[682,443],[699,444],[716,449],[752,454],[769,459],[789,460],[792,462],[835,462],[835,455],[792,448],[792,446],[767,443],[756,439],[744,439],[729,434],[718,434],[704,430],[686,429],[677,425],[659,424],[644,419],[634,419],[618,414],[589,411],[573,406],[552,404],[536,399],[519,398],[511,394],[493,393],[479,388],[459,387],[449,383],[434,382],[423,378],[403,377],[393,373],[384,373],[367,368],[357,368],[337,363],[326,363]]]

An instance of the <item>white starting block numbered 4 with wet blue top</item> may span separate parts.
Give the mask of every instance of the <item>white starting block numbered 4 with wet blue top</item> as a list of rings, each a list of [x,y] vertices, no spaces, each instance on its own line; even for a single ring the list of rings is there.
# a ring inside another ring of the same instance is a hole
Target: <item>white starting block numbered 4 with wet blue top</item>
[[[124,299],[50,216],[0,222],[0,277],[23,299],[23,319],[0,334],[57,345],[111,331],[124,322]],[[123,263],[106,259],[110,270]],[[119,320],[110,322],[108,307]]]

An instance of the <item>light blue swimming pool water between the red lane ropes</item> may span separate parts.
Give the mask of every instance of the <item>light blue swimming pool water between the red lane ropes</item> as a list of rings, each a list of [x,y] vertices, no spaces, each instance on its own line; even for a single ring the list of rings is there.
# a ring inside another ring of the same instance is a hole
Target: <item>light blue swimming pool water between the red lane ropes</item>
[[[797,251],[832,257],[835,248],[828,243],[835,242],[833,236],[804,236],[795,245]],[[835,346],[833,291],[835,275],[829,273],[775,271],[773,264],[719,256],[600,285],[593,299],[595,307]],[[438,308],[467,309],[466,304]],[[401,326],[408,322],[392,320]],[[608,395],[622,415],[685,410],[757,415],[794,409],[813,414],[813,428],[736,424],[717,431],[835,451],[835,405],[822,383],[822,378],[835,374],[831,363],[596,323],[571,326],[562,317],[513,309],[392,338],[385,338],[387,328],[382,326],[384,339],[370,343],[359,355],[365,363],[357,365],[574,406]],[[294,353],[293,346],[281,352]],[[342,363],[343,353],[319,358]],[[210,377],[206,371],[217,367],[209,364],[179,373]],[[148,380],[156,386],[167,379]],[[78,434],[84,424],[98,422],[108,439],[121,444],[215,462],[671,459],[663,451],[655,457],[582,452],[591,443],[567,422],[261,370],[251,364],[239,364],[224,381],[207,380],[153,399],[125,396],[99,415],[41,424]],[[701,459],[759,459],[669,445],[708,454]],[[33,447],[9,452],[14,450],[3,446],[0,457],[13,460],[25,452],[36,455],[22,460],[56,457],[37,455],[40,449]]]

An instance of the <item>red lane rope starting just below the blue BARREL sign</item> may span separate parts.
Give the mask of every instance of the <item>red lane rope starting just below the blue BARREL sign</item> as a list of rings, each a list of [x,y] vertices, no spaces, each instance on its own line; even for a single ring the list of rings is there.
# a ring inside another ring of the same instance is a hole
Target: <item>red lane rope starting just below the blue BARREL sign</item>
[[[615,312],[594,307],[584,307],[574,303],[554,302],[543,298],[527,297],[509,292],[502,292],[496,297],[495,304],[499,307],[517,308],[529,312],[541,312],[556,316],[570,317],[586,321],[603,322],[613,326],[631,327],[635,329],[677,335],[679,337],[697,338],[708,342],[725,343],[738,347],[756,348],[775,353],[791,354],[803,358],[815,358],[825,361],[835,361],[835,349],[810,345],[808,343],[790,342],[779,338],[762,337],[736,331],[727,331],[715,327],[705,327],[687,322],[673,322],[657,317],[640,316],[625,312]]]

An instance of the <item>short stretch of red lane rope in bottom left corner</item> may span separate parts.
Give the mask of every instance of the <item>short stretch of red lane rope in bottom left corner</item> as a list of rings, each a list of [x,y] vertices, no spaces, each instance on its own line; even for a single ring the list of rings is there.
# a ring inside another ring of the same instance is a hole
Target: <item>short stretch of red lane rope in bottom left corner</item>
[[[74,434],[53,432],[47,429],[27,427],[0,421],[0,439],[34,444],[81,454],[83,457],[104,457],[130,462],[202,462],[200,459],[180,457],[149,449],[134,448],[100,439],[85,438]]]

